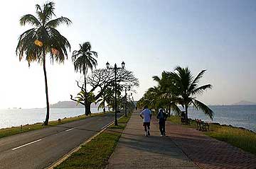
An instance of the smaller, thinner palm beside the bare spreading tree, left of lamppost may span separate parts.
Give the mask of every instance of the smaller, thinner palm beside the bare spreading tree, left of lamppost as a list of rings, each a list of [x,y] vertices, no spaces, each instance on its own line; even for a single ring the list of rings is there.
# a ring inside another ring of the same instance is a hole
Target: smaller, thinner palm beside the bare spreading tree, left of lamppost
[[[75,50],[72,54],[72,61],[75,66],[75,72],[80,72],[85,76],[85,115],[90,114],[90,103],[87,100],[87,91],[86,91],[86,74],[88,68],[92,70],[93,66],[97,66],[97,60],[94,57],[97,57],[97,52],[91,50],[90,42],[85,42],[80,45],[79,50]],[[93,57],[94,56],[94,57]]]

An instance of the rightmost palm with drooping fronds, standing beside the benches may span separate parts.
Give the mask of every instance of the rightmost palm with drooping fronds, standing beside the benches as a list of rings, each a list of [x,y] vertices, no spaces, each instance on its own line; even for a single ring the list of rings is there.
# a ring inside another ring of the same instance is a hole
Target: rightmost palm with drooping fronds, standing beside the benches
[[[198,86],[199,80],[202,78],[206,70],[201,71],[196,78],[193,78],[191,71],[180,66],[174,69],[174,72],[169,72],[170,88],[174,95],[178,95],[173,98],[173,103],[178,103],[185,107],[186,120],[188,120],[188,107],[193,105],[197,110],[202,110],[206,115],[213,119],[213,111],[199,100],[196,100],[196,96],[203,94],[209,88],[212,88],[210,84]]]

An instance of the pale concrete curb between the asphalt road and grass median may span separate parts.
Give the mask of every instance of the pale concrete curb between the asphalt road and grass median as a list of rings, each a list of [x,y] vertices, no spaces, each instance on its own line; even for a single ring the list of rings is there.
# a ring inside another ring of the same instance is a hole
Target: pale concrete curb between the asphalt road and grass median
[[[121,119],[122,117],[124,117],[124,115],[122,115],[121,117],[119,117],[117,120]],[[114,124],[114,121],[110,122],[109,124],[107,124],[107,126],[105,126],[102,130],[100,130],[100,132],[98,132],[97,134],[91,136],[89,139],[87,139],[85,142],[83,142],[82,144],[80,144],[78,147],[73,148],[70,152],[66,153],[64,156],[62,156],[60,159],[58,159],[57,161],[53,162],[52,164],[50,164],[48,167],[46,167],[45,169],[53,169],[55,167],[57,167],[58,165],[60,165],[60,163],[63,163],[63,161],[65,161],[66,159],[68,159],[73,153],[75,153],[76,151],[78,151],[83,145],[87,144],[88,142],[92,141],[92,139],[94,139],[97,135],[101,134],[102,132],[104,132],[108,127],[110,127],[112,124]]]

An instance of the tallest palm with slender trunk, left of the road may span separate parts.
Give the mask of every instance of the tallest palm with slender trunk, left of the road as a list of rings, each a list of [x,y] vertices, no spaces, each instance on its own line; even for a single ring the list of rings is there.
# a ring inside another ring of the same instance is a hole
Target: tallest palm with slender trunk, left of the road
[[[28,66],[31,62],[38,62],[43,64],[43,73],[46,86],[46,121],[48,125],[49,120],[49,100],[48,100],[48,85],[46,76],[46,54],[50,54],[50,59],[53,63],[63,63],[65,57],[68,57],[67,49],[70,49],[70,43],[61,35],[56,28],[58,25],[65,23],[70,25],[71,21],[68,18],[60,17],[51,20],[54,13],[53,2],[48,2],[43,6],[36,4],[36,16],[27,14],[21,17],[20,24],[30,24],[33,28],[26,30],[18,37],[18,45],[16,47],[16,55],[19,60],[26,57]]]

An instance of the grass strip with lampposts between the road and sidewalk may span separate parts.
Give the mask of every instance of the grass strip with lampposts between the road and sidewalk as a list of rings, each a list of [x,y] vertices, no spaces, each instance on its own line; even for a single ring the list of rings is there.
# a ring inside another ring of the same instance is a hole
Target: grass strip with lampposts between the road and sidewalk
[[[55,169],[105,168],[108,159],[113,153],[115,146],[117,146],[117,142],[129,121],[129,117],[119,119],[118,126],[112,124],[104,132],[82,146],[79,151],[73,153],[68,159],[63,161],[63,163],[60,163]]]

